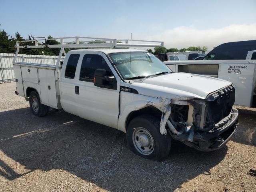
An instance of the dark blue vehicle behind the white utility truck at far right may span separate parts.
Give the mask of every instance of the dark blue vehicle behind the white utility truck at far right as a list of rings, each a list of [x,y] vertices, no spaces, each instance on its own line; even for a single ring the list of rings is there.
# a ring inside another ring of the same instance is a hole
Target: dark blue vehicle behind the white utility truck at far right
[[[248,51],[256,50],[256,40],[224,43],[211,50],[203,60],[245,60]]]

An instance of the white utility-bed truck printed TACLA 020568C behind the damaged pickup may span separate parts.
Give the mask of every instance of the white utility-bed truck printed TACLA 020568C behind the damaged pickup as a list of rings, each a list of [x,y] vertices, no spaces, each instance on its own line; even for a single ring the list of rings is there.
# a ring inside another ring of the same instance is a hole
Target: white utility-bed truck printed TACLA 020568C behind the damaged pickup
[[[252,106],[256,90],[256,50],[249,51],[247,60],[165,61],[173,72],[186,72],[221,78],[236,85],[236,105]]]

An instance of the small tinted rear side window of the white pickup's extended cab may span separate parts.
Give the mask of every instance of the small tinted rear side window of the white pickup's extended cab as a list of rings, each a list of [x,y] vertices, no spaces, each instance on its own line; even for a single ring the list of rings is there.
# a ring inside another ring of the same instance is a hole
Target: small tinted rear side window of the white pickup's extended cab
[[[74,79],[76,73],[76,66],[80,54],[71,54],[68,58],[68,63],[65,71],[65,78]]]

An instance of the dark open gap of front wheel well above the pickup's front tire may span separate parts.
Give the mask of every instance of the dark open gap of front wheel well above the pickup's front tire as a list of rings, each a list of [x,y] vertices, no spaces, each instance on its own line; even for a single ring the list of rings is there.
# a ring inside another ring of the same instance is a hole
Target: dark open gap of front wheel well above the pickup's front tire
[[[125,129],[127,130],[128,124],[132,119],[134,119],[137,116],[145,115],[145,114],[153,115],[156,118],[158,117],[161,118],[162,116],[162,112],[154,106],[148,106],[137,111],[132,111],[130,112],[130,114],[128,115],[128,118],[126,119]]]

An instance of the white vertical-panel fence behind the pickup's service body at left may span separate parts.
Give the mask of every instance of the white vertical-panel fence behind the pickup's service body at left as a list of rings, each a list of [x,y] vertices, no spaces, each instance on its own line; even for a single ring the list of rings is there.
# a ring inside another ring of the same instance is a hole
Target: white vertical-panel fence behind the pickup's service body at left
[[[14,55],[15,54],[12,53],[0,53],[0,83],[15,81],[12,66]],[[18,54],[16,62],[55,65],[57,59],[58,56]],[[62,59],[64,59],[64,57],[62,57]]]

